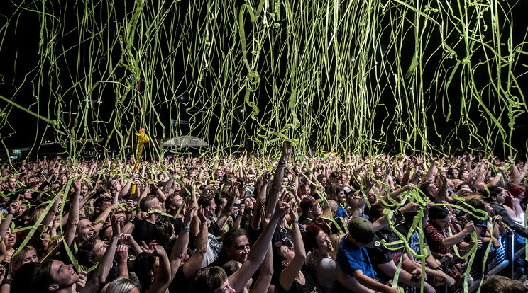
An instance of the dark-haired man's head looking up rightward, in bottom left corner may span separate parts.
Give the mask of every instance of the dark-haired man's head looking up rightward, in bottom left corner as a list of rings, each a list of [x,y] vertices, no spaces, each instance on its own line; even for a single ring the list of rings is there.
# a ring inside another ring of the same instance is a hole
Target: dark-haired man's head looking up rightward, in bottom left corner
[[[79,280],[73,265],[60,260],[45,260],[35,267],[29,283],[33,292],[55,292],[71,288]]]

